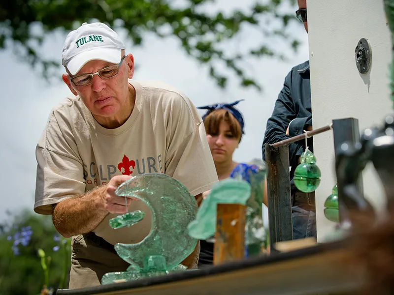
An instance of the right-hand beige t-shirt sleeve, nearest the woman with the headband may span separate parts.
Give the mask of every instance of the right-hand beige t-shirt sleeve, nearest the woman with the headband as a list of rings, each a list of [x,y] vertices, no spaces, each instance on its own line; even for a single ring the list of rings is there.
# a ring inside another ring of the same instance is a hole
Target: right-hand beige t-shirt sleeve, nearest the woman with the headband
[[[167,124],[165,174],[178,179],[193,196],[209,190],[218,181],[196,107],[184,96],[175,99]]]

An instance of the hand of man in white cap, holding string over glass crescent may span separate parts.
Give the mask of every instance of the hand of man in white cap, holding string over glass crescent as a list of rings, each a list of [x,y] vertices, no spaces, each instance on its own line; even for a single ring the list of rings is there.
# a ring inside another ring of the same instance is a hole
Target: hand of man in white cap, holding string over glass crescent
[[[111,180],[109,180],[108,184],[106,185],[107,187],[105,189],[103,198],[104,209],[109,213],[123,214],[127,212],[132,198],[119,197],[115,195],[115,190],[119,185],[130,178],[131,176],[128,175],[118,175],[112,177]]]

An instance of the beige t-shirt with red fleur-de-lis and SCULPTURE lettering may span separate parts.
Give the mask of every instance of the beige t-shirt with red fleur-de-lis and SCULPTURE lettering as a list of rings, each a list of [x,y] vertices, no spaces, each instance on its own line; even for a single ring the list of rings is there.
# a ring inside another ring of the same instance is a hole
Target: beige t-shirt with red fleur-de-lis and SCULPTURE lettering
[[[52,205],[108,183],[115,175],[165,173],[194,196],[217,181],[202,119],[190,99],[160,82],[130,80],[136,92],[130,118],[119,128],[99,125],[79,97],[56,107],[36,147],[34,211],[51,214]],[[151,228],[151,211],[139,201],[145,218],[114,230],[109,214],[94,230],[111,244],[141,241]]]

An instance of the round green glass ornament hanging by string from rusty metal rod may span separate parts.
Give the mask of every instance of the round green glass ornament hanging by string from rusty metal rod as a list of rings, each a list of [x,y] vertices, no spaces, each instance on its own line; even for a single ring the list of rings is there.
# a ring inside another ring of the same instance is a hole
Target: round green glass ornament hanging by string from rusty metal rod
[[[321,176],[315,155],[306,149],[301,155],[300,164],[294,171],[294,184],[301,192],[311,193],[319,186]]]

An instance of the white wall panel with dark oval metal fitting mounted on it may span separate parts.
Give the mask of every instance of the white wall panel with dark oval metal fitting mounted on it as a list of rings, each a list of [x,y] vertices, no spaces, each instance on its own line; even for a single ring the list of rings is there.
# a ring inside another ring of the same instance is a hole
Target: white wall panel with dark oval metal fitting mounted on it
[[[380,125],[391,113],[389,98],[390,31],[383,0],[308,0],[309,58],[313,127],[334,118],[359,119],[360,131]],[[372,47],[372,65],[361,75],[355,48],[361,38]],[[324,202],[335,184],[332,132],[314,137],[322,180],[316,190],[318,240],[334,227],[323,213]],[[376,207],[384,205],[380,184],[371,167],[363,174],[364,193]]]

